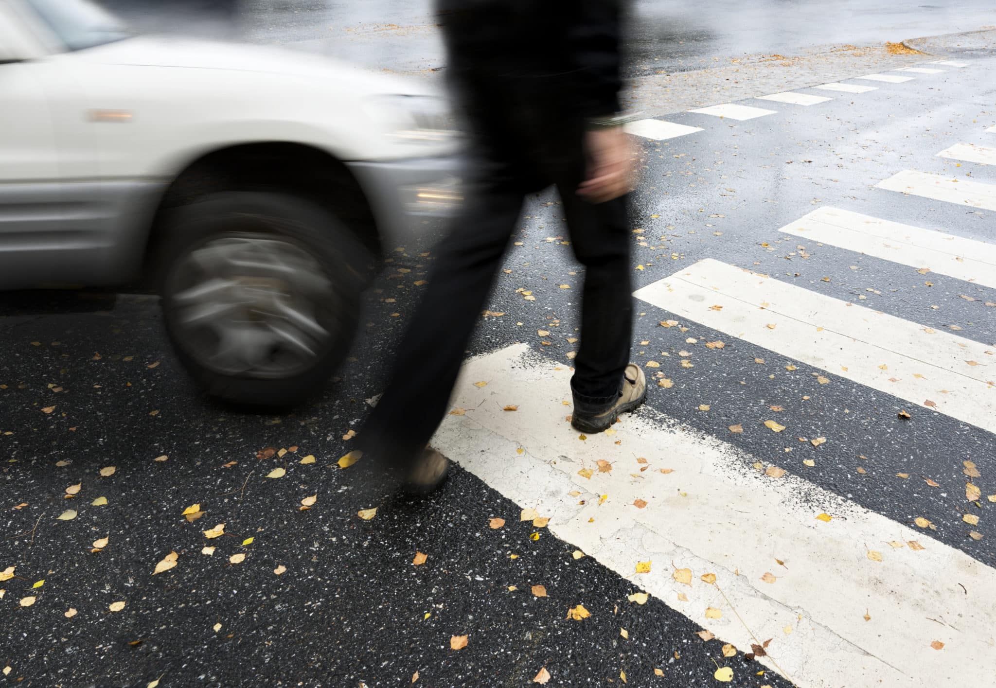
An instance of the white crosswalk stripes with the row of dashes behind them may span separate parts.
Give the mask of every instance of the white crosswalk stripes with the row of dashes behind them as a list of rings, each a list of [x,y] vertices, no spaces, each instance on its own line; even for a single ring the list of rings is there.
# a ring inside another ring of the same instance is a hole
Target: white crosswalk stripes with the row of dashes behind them
[[[969,63],[926,64],[856,79],[900,85],[914,79],[903,73],[929,78]],[[863,94],[891,87],[814,88]],[[789,92],[758,100],[812,107],[833,99]],[[689,113],[748,120],[778,111],[723,104]],[[644,119],[627,130],[661,140],[706,126]],[[883,208],[920,197],[959,212],[996,211],[996,184],[952,173],[946,162],[991,165],[996,148],[959,141],[931,155],[935,168],[884,172],[869,187],[873,198]],[[835,258],[852,262],[861,254],[919,273],[918,282],[949,278],[943,298],[969,305],[977,321],[996,318],[985,292],[996,289],[996,237],[898,222],[887,210],[880,217],[831,205],[806,210],[772,231]],[[957,325],[876,310],[880,294],[868,292],[832,296],[808,279],[705,258],[634,298],[682,327],[769,351],[766,359],[780,372],[812,375],[819,384],[849,380],[886,395],[886,405],[895,405],[890,413],[919,407],[996,433],[996,343],[972,339]],[[452,400],[461,412],[446,417],[433,444],[523,509],[549,517],[550,532],[631,581],[634,592],[649,592],[737,647],[775,638],[771,656],[757,661],[795,685],[955,685],[965,666],[996,675],[996,602],[965,593],[996,589],[996,569],[926,535],[923,519],[900,523],[651,408],[608,433],[579,435],[567,416],[571,374],[569,363],[527,344],[468,360]],[[518,412],[507,412],[510,406]],[[984,499],[983,514],[996,507]],[[638,573],[637,563],[649,563],[649,571]],[[684,570],[690,582],[677,574]],[[887,624],[871,622],[877,618]]]

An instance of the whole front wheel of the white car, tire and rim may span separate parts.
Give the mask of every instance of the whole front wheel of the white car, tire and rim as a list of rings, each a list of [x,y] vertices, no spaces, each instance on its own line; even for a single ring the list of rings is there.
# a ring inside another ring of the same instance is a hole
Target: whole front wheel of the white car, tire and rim
[[[194,380],[239,404],[299,403],[356,335],[364,251],[332,213],[283,193],[207,196],[164,227],[166,331]]]

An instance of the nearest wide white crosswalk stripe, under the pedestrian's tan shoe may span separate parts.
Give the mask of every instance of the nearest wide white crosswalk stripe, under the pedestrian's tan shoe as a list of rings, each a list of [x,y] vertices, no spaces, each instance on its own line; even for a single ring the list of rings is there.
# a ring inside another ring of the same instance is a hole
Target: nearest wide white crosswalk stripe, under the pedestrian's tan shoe
[[[996,589],[992,569],[797,475],[769,478],[749,455],[649,408],[624,416],[612,435],[582,441],[565,420],[570,379],[567,365],[527,344],[470,359],[453,398],[467,410],[446,416],[432,444],[520,508],[549,517],[540,537],[571,543],[632,581],[632,591],[650,592],[741,651],[756,642],[744,623],[760,640],[774,638],[768,651],[796,685],[923,688],[950,685],[966,666],[980,676],[996,672],[996,604],[958,584]],[[479,380],[487,386],[475,387]],[[510,403],[519,410],[503,411]],[[824,448],[810,449],[807,456],[824,460]],[[611,472],[599,470],[600,459]],[[591,479],[578,474],[585,469]],[[637,499],[646,507],[634,506]],[[818,521],[821,513],[833,520]],[[466,527],[488,532],[486,524]],[[494,547],[523,556],[529,543],[518,537]],[[883,544],[909,541],[924,549]],[[564,556],[564,566],[574,566]],[[634,573],[637,562],[651,562],[650,573]],[[690,584],[672,577],[685,568]],[[716,585],[700,579],[705,573]],[[763,581],[765,573],[776,581]],[[585,601],[577,594],[563,598],[564,613]],[[721,616],[707,617],[707,607]],[[931,620],[941,618],[949,623]],[[930,648],[934,640],[945,643],[942,652]],[[767,657],[758,661],[774,671]]]

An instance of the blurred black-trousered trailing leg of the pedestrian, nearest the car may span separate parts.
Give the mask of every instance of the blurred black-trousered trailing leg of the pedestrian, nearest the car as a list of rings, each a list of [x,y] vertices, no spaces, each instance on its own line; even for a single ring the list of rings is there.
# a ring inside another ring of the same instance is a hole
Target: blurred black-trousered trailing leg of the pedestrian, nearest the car
[[[484,190],[434,250],[391,381],[358,438],[373,458],[403,467],[438,427],[521,207],[521,192]]]

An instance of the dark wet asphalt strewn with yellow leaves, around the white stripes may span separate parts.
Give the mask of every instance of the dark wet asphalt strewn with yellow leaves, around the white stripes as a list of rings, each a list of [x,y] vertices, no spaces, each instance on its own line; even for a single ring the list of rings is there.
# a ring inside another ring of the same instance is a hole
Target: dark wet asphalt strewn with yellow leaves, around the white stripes
[[[634,286],[716,258],[838,299],[864,295],[876,310],[938,330],[957,325],[959,336],[996,346],[996,316],[984,306],[996,302],[996,290],[943,276],[931,276],[928,287],[915,270],[778,233],[834,205],[991,241],[991,211],[872,188],[905,168],[996,183],[992,168],[934,157],[955,141],[993,135],[983,129],[993,123],[996,89],[980,75],[996,61],[975,58],[972,69],[860,96],[802,90],[835,96],[811,108],[745,103],[779,111],[760,119],[669,116],[705,130],[638,141],[645,168],[633,212],[650,239],[640,246],[634,235],[633,265],[645,268],[634,271]],[[523,215],[522,245],[509,253],[511,273],[499,276],[489,305],[506,315],[481,320],[468,354],[534,342],[556,318],[553,344],[534,344],[568,362],[583,271],[561,245],[570,237],[555,195],[528,199]],[[545,667],[550,685],[621,685],[624,673],[627,685],[704,686],[715,684],[717,666],[731,666],[729,685],[790,685],[758,674],[762,667],[742,652],[724,657],[719,641],[701,640],[695,624],[660,600],[629,602],[637,588],[591,558],[575,560],[569,543],[545,532],[531,540],[535,529],[519,523],[519,507],[458,468],[436,495],[413,500],[387,494],[363,462],[336,465],[351,449],[344,435],[359,428],[366,399],[382,389],[435,231],[392,251],[367,295],[351,360],[319,398],[290,413],[247,413],[200,396],[165,343],[154,299],[4,295],[0,571],[16,567],[0,582],[6,681],[373,687],[408,685],[418,672],[415,685],[525,686]],[[798,255],[800,244],[809,258]],[[560,290],[565,283],[573,289]],[[537,300],[523,301],[518,288]],[[976,301],[960,298],[968,293]],[[992,505],[976,512],[978,526],[962,521],[975,508],[964,500],[963,461],[978,465],[983,494],[996,493],[991,433],[833,374],[821,385],[810,374],[816,368],[796,361],[798,369],[786,371],[782,356],[700,326],[660,328],[673,317],[664,310],[640,304],[637,313],[634,342],[650,343],[634,347],[638,362],[660,351],[673,360],[688,337],[727,343],[698,356],[693,369],[666,367],[674,385],[651,387],[650,406],[896,522],[925,517],[937,530],[924,538],[996,566]],[[766,362],[755,363],[759,357]],[[696,411],[703,403],[710,413]],[[785,440],[761,426],[771,404],[786,409],[779,419],[793,433],[827,444],[786,454]],[[899,409],[911,418],[898,418]],[[729,433],[734,423],[745,431]],[[268,447],[276,453],[257,458]],[[301,463],[309,455],[315,462]],[[804,467],[810,456],[816,465]],[[265,477],[275,468],[286,475]],[[311,495],[315,505],[301,510]],[[100,497],[106,505],[94,504]],[[194,504],[203,516],[189,522],[181,514]],[[372,521],[357,518],[373,506]],[[57,520],[68,509],[77,517]],[[492,518],[506,525],[492,530]],[[221,523],[224,535],[206,540],[202,531]],[[982,539],[970,538],[972,530]],[[107,546],[92,552],[101,538]],[[205,546],[216,549],[203,554]],[[153,575],[171,552],[176,566]],[[428,559],[413,566],[419,552]],[[233,563],[237,555],[245,558]],[[536,584],[547,596],[534,596]],[[35,602],[22,606],[28,596]],[[124,608],[112,611],[120,601]],[[567,617],[578,604],[589,618]],[[451,649],[461,635],[467,646]]]

